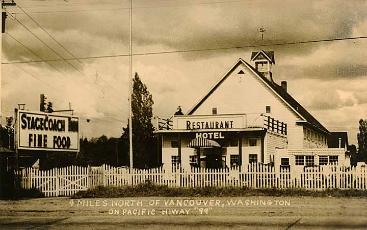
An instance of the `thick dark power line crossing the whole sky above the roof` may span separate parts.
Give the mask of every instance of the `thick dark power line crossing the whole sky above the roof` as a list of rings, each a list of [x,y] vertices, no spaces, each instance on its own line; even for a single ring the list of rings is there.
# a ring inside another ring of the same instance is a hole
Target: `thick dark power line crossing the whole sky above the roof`
[[[361,37],[349,37],[349,38],[334,38],[334,39],[323,39],[323,40],[310,40],[310,41],[301,41],[301,42],[285,42],[285,43],[273,43],[267,44],[264,46],[282,46],[282,45],[296,45],[296,44],[307,44],[307,43],[318,43],[318,42],[331,42],[331,41],[342,41],[342,40],[356,40],[356,39],[365,39],[367,36]],[[143,55],[156,55],[156,54],[169,54],[169,53],[187,53],[187,52],[204,52],[204,51],[215,51],[215,50],[227,50],[227,49],[243,49],[243,48],[253,48],[253,47],[261,47],[261,45],[246,45],[246,46],[231,46],[231,47],[219,47],[219,48],[207,48],[207,49],[186,49],[186,50],[176,50],[176,51],[162,51],[162,52],[149,52],[149,53],[133,53],[132,56],[143,56]],[[84,59],[104,59],[109,57],[124,57],[129,56],[129,54],[117,54],[117,55],[104,55],[104,56],[89,56],[89,57],[78,57],[79,60]],[[65,59],[65,60],[75,60],[75,59]],[[3,65],[7,64],[22,64],[22,63],[37,63],[37,62],[55,62],[55,61],[63,61],[60,59],[54,60],[46,60],[46,61],[22,61],[22,62],[6,62],[2,63]]]

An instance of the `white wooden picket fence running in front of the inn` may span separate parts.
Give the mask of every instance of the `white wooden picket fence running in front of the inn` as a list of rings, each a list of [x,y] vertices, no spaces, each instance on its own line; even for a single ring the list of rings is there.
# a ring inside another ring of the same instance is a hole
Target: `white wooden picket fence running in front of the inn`
[[[68,166],[50,170],[24,168],[15,172],[20,187],[38,188],[45,196],[70,196],[96,186],[152,182],[169,187],[251,187],[302,189],[367,189],[367,167],[306,166],[299,170],[251,163],[233,168],[151,168]]]

